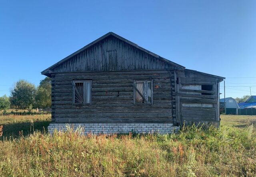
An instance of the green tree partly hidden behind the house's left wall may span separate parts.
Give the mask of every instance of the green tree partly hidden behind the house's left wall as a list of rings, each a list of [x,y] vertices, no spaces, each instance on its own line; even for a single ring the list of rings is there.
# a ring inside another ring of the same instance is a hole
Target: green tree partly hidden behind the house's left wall
[[[35,107],[38,107],[38,108],[51,107],[51,104],[52,104],[51,91],[52,91],[51,78],[46,77],[44,78],[44,80],[40,81],[40,84],[36,90]]]

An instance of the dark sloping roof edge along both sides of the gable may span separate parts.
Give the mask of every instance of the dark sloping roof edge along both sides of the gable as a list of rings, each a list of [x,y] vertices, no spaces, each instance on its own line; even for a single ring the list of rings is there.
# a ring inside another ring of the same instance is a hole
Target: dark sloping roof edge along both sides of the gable
[[[47,74],[49,74],[49,72],[50,72],[51,69],[53,69],[53,68],[55,68],[56,66],[59,66],[60,64],[66,62],[67,60],[69,60],[70,58],[72,58],[73,56],[75,56],[76,54],[78,54],[78,53],[80,53],[80,52],[86,50],[87,48],[89,48],[89,47],[91,47],[92,45],[94,45],[94,44],[100,42],[101,40],[104,40],[104,39],[107,38],[108,36],[114,36],[114,37],[116,37],[116,38],[118,38],[118,39],[120,39],[120,40],[122,40],[122,41],[124,41],[124,42],[126,42],[126,43],[128,43],[128,44],[130,44],[130,45],[132,45],[132,46],[134,46],[135,48],[138,48],[139,50],[142,50],[142,51],[144,51],[144,52],[146,52],[146,53],[148,53],[148,54],[150,54],[150,55],[152,55],[152,56],[158,58],[159,60],[162,60],[163,62],[166,62],[166,63],[168,63],[168,64],[170,64],[170,65],[173,65],[173,66],[177,67],[177,68],[180,69],[180,70],[184,70],[184,68],[185,68],[184,66],[181,66],[181,65],[176,64],[176,63],[174,63],[174,62],[171,62],[170,60],[167,60],[167,59],[165,59],[165,58],[163,58],[163,57],[161,57],[161,56],[158,56],[158,55],[154,54],[153,52],[150,52],[150,51],[148,51],[148,50],[146,50],[146,49],[144,49],[144,48],[138,46],[137,44],[134,44],[133,42],[130,42],[129,40],[126,40],[125,38],[122,38],[121,36],[119,36],[119,35],[117,35],[117,34],[115,34],[115,33],[113,33],[113,32],[108,32],[108,33],[105,34],[104,36],[98,38],[97,40],[91,42],[90,44],[84,46],[84,47],[81,48],[80,50],[74,52],[73,54],[67,56],[66,58],[60,60],[60,61],[57,62],[56,64],[54,64],[54,65],[50,66],[49,68],[47,68],[46,70],[42,71],[41,74],[44,74],[44,75],[47,76]]]

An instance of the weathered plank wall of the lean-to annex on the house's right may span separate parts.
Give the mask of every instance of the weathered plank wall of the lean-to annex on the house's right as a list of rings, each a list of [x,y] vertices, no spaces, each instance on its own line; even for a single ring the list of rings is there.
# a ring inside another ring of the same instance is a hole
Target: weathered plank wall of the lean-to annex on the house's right
[[[186,124],[198,122],[213,122],[218,124],[219,116],[219,78],[193,72],[191,70],[177,71],[177,118]],[[200,88],[202,85],[212,85],[212,91]],[[199,89],[196,89],[198,87]],[[210,93],[211,95],[202,95]]]

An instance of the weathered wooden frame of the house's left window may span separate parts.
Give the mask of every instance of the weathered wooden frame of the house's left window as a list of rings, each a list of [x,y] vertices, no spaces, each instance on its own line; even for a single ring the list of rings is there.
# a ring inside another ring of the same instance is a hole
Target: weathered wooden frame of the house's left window
[[[86,82],[90,83],[90,103],[86,103],[86,99],[87,99],[87,89],[86,89]],[[83,99],[84,99],[84,103],[75,103],[75,83],[83,83]],[[92,104],[92,80],[73,80],[72,81],[72,89],[73,89],[73,94],[72,94],[72,103],[73,105],[91,105]]]

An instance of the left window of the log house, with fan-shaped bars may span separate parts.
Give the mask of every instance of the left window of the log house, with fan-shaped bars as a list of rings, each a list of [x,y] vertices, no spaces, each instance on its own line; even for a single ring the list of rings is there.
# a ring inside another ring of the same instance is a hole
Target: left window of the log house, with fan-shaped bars
[[[92,104],[92,81],[73,81],[73,103]]]

